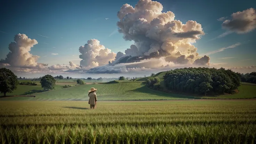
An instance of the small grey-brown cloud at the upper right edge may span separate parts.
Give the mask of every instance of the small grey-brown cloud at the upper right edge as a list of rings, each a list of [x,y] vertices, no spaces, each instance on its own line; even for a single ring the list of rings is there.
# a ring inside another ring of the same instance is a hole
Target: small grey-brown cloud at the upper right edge
[[[256,28],[256,11],[249,8],[231,15],[232,19],[225,20],[222,27],[230,31],[242,34],[253,31]]]

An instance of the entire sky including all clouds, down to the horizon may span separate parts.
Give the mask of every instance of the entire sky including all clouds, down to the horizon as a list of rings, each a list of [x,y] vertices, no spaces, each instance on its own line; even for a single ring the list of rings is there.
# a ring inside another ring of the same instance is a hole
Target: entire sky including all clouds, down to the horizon
[[[251,0],[1,1],[0,66],[26,77],[142,77],[188,66],[256,71],[255,7]],[[163,27],[172,21],[176,27]]]

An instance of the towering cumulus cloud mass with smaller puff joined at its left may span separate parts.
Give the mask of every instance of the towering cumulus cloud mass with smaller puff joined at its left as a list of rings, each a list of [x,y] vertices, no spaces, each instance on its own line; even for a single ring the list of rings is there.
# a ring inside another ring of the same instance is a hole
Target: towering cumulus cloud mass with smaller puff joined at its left
[[[210,58],[200,57],[191,44],[204,35],[201,24],[196,21],[183,24],[175,19],[173,12],[162,13],[162,9],[161,3],[151,0],[139,0],[135,7],[123,5],[117,13],[118,31],[126,41],[134,41],[134,45],[116,56],[105,50],[109,52],[103,60],[96,56],[104,46],[97,40],[89,40],[79,48],[83,59],[80,67],[93,67],[88,73],[118,73],[175,65],[209,65]]]

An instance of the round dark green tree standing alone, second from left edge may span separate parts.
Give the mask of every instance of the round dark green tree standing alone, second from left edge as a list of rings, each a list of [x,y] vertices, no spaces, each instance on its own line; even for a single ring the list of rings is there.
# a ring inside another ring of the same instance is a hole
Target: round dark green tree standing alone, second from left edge
[[[54,89],[56,80],[53,76],[47,74],[41,78],[41,85],[44,90],[51,90]]]

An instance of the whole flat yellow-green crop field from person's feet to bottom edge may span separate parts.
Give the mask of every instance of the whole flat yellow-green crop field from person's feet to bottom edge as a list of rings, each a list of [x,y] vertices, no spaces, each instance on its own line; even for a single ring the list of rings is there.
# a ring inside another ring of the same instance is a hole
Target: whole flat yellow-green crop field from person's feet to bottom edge
[[[242,100],[0,101],[1,143],[255,143],[256,103]]]

